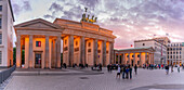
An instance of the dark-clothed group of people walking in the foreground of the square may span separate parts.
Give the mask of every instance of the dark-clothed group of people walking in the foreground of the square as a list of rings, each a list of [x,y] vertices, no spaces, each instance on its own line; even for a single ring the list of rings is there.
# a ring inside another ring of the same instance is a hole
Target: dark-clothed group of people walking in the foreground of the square
[[[137,66],[134,66],[135,75],[137,74]],[[118,65],[118,72],[116,78],[120,78],[122,74],[122,79],[132,79],[132,66],[131,65]]]

